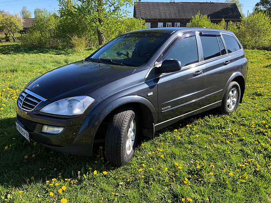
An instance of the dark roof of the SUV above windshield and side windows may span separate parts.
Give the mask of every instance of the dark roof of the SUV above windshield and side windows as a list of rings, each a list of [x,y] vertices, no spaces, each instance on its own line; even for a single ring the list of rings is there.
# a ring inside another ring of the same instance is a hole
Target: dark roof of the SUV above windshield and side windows
[[[219,29],[209,29],[209,28],[150,28],[143,30],[135,30],[129,33],[162,33],[162,34],[173,34],[175,32],[187,32],[187,31],[215,31],[215,32],[223,32],[228,34],[233,34],[227,30],[219,30]]]

